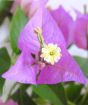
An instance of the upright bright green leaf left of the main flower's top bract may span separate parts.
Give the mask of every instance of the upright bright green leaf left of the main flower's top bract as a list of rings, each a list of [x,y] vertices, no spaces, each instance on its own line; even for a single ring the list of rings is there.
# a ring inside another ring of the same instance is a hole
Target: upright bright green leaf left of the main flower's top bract
[[[10,28],[11,46],[16,54],[19,53],[18,38],[26,22],[27,22],[27,17],[24,15],[23,11],[20,8],[17,8],[16,13],[12,18],[11,28]]]

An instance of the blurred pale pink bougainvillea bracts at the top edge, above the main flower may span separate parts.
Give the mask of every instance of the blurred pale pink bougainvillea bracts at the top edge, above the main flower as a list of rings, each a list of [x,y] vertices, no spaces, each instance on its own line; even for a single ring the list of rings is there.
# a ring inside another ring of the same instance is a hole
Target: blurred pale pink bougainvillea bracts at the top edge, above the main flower
[[[25,14],[30,18],[38,9],[40,3],[42,2],[44,5],[47,3],[47,1],[48,0],[14,0],[11,12],[14,12],[16,7],[20,6]]]

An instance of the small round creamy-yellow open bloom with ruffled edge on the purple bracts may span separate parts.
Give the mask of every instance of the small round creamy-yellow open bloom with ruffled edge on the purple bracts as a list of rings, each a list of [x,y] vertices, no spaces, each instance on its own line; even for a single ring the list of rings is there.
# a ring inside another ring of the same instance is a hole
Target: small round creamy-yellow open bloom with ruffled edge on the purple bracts
[[[48,63],[54,65],[61,58],[61,49],[56,44],[49,43],[42,48],[41,57]]]

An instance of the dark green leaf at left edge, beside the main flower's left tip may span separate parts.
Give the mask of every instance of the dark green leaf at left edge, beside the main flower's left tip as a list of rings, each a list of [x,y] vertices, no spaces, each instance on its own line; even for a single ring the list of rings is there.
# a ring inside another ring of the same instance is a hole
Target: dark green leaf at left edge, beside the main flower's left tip
[[[9,69],[11,60],[6,48],[0,49],[0,76]],[[4,79],[0,78],[0,94],[2,93],[2,88],[4,84]]]

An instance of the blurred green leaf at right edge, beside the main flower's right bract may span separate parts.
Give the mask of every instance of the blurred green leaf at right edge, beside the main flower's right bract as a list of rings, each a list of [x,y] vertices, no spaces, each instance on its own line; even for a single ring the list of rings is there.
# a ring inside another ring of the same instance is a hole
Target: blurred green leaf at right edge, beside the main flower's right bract
[[[74,57],[77,63],[80,65],[83,73],[88,77],[88,58]]]

